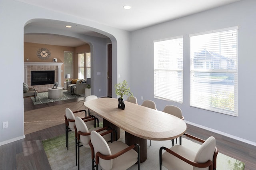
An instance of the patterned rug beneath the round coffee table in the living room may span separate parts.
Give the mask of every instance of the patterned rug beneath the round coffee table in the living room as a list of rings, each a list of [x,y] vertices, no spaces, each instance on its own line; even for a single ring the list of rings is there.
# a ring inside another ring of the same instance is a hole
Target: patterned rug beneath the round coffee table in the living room
[[[63,90],[63,95],[59,99],[48,99],[48,92],[41,92],[41,93],[37,94],[36,102],[35,102],[34,97],[31,97],[31,100],[33,101],[34,105],[38,105],[38,104],[50,103],[50,102],[54,102],[54,101],[64,101],[64,100],[68,100],[68,99],[76,99],[79,97],[83,97],[83,96],[76,95],[76,94],[72,95],[67,90]]]

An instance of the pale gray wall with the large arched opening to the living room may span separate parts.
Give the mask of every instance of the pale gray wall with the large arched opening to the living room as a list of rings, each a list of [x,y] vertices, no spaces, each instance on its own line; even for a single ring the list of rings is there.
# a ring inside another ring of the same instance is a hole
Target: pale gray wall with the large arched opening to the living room
[[[44,11],[44,12],[42,12]],[[24,99],[23,87],[24,80],[24,34],[40,32],[66,35],[80,38],[90,44],[94,60],[92,74],[94,75],[94,94],[97,96],[106,96],[106,43],[109,40],[100,40],[69,32],[60,32],[59,30],[46,30],[44,28],[29,28],[26,24],[42,20],[57,20],[69,23],[79,24],[84,28],[99,32],[109,37],[112,42],[112,83],[116,84],[123,79],[130,81],[130,72],[128,67],[130,61],[126,58],[130,56],[130,32],[118,30],[116,28],[104,26],[88,20],[82,20],[74,16],[46,10],[37,6],[31,6],[15,0],[0,1],[0,49],[2,51],[0,58],[2,66],[0,72],[4,73],[2,79],[6,80],[6,87],[1,95],[4,97],[0,102],[0,124],[8,121],[9,127],[0,128],[0,145],[24,138]],[[39,18],[39,19],[38,19]],[[26,28],[24,28],[26,27]],[[117,48],[118,45],[118,48]],[[118,58],[120,56],[120,59]],[[97,76],[97,72],[101,72]],[[118,74],[122,77],[118,78]],[[11,80],[11,81],[10,81]],[[98,89],[102,89],[101,92]],[[114,86],[112,87],[114,91]],[[113,94],[113,97],[116,97]],[[1,126],[2,127],[2,126]]]

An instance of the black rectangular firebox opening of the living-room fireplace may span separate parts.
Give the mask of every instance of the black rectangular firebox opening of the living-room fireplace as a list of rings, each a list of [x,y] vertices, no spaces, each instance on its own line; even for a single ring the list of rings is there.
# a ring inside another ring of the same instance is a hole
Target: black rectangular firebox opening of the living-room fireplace
[[[31,71],[31,85],[54,84],[53,71]]]

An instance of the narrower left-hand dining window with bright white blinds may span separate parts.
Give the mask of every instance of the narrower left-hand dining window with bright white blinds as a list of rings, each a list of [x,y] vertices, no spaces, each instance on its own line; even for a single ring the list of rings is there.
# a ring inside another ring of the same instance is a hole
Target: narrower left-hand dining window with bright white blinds
[[[183,38],[154,41],[154,97],[183,102]]]

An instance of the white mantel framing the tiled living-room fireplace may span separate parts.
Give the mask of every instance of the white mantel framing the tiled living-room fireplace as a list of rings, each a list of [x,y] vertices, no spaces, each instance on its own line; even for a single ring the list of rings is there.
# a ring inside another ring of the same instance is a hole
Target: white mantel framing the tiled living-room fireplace
[[[63,63],[58,63],[58,62],[24,62],[24,82],[27,83],[27,69],[28,65],[54,65],[58,66],[58,83],[59,87],[61,87],[61,66]]]

